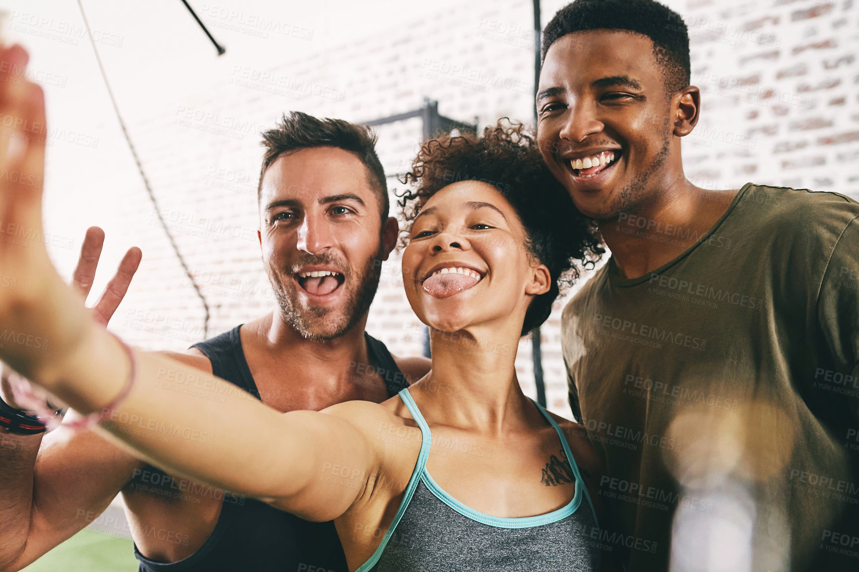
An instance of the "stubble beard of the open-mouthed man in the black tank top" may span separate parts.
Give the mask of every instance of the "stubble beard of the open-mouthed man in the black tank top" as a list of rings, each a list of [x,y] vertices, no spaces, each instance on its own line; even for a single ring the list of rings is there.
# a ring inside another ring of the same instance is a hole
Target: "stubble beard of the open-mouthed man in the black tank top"
[[[354,289],[351,290],[339,319],[333,324],[326,324],[324,327],[320,327],[320,321],[325,320],[330,313],[336,312],[336,310],[323,307],[301,307],[296,291],[298,286],[294,286],[288,291],[278,277],[274,275],[271,267],[266,265],[265,272],[268,274],[283,320],[292,326],[302,338],[313,342],[330,342],[351,332],[369,310],[376,290],[379,289],[381,249],[382,246],[380,246],[379,252],[370,257],[360,275],[353,279],[352,271],[349,271],[348,275],[344,274],[344,283],[340,288],[344,288],[346,283],[353,283]],[[316,264],[335,262],[333,259],[327,259],[327,257],[314,257],[314,259],[316,259]],[[289,275],[288,279],[292,281],[292,276]]]

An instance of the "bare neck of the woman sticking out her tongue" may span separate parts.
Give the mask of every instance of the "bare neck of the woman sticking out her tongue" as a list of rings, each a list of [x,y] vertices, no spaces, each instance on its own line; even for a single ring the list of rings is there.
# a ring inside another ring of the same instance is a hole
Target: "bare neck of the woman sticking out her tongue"
[[[516,377],[519,332],[430,329],[432,369],[412,386],[424,417],[448,426],[499,434],[537,413]],[[539,416],[538,416],[539,417]],[[443,421],[441,421],[443,419]]]

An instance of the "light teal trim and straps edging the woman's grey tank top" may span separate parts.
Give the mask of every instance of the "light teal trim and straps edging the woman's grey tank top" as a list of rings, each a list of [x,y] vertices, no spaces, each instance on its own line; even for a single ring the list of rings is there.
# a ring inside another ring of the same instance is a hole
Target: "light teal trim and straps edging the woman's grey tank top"
[[[405,487],[405,495],[403,496],[403,501],[399,503],[399,508],[397,509],[397,514],[394,514],[393,520],[391,521],[391,525],[388,526],[387,532],[385,532],[385,536],[381,539],[381,543],[378,548],[376,548],[373,556],[369,557],[367,562],[363,563],[361,566],[356,569],[355,572],[367,572],[369,569],[372,569],[377,562],[379,562],[379,558],[381,558],[382,552],[385,551],[385,547],[387,546],[387,542],[391,539],[394,530],[396,530],[397,525],[399,524],[399,520],[403,518],[403,514],[405,514],[406,509],[409,507],[409,503],[411,502],[411,497],[415,494],[415,489],[417,489],[417,484],[419,481],[423,480],[423,484],[426,485],[427,489],[432,492],[433,495],[438,497],[438,499],[448,507],[453,508],[456,512],[466,516],[466,518],[475,520],[484,525],[488,526],[497,526],[499,528],[530,528],[533,526],[545,526],[547,524],[551,524],[552,522],[557,522],[558,520],[562,520],[570,514],[576,512],[576,509],[579,508],[579,505],[582,503],[582,493],[584,496],[588,498],[588,504],[591,506],[591,511],[594,513],[594,522],[599,523],[596,520],[596,512],[594,510],[594,503],[590,500],[590,495],[588,495],[588,490],[584,486],[584,481],[582,481],[582,475],[579,473],[579,467],[576,465],[576,459],[573,458],[573,453],[570,451],[570,445],[567,443],[567,439],[564,436],[564,431],[561,430],[560,426],[555,423],[555,420],[551,418],[551,415],[548,411],[539,405],[533,399],[531,400],[534,405],[537,406],[537,410],[545,417],[545,419],[551,424],[552,428],[557,432],[558,438],[561,440],[561,446],[564,447],[564,453],[567,455],[567,459],[570,460],[570,467],[573,469],[573,474],[576,476],[576,493],[573,495],[573,498],[570,502],[568,502],[564,507],[558,508],[557,510],[551,511],[551,513],[546,514],[538,514],[536,516],[524,516],[519,518],[503,518],[501,516],[493,516],[491,514],[481,513],[478,510],[475,510],[471,507],[466,506],[460,501],[457,501],[453,496],[450,496],[448,492],[446,492],[442,487],[440,487],[435,480],[430,476],[430,472],[427,471],[426,463],[427,459],[430,457],[430,447],[432,447],[432,433],[430,432],[430,425],[427,424],[426,420],[423,418],[421,411],[417,408],[417,404],[414,399],[411,399],[411,394],[409,393],[409,388],[405,387],[402,391],[399,392],[399,399],[403,400],[406,409],[411,413],[411,417],[414,418],[417,426],[421,429],[421,450],[417,453],[417,463],[415,463],[415,470],[411,473],[411,479],[409,479],[409,484]]]

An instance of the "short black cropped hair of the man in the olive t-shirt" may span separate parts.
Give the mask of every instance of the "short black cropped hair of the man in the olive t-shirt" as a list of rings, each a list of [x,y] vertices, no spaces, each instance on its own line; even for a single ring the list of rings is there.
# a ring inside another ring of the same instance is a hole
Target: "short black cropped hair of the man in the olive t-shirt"
[[[542,59],[562,36],[597,29],[626,30],[652,40],[667,93],[675,94],[691,82],[689,30],[683,16],[655,0],[576,0],[567,4],[545,27]]]

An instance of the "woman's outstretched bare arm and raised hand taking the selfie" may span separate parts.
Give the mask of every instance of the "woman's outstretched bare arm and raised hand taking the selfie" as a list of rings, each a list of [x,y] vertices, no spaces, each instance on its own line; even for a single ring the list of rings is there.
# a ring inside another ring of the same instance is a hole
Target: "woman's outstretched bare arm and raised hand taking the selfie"
[[[21,53],[13,46],[0,58],[17,58],[23,68]],[[14,131],[0,133],[0,167],[33,175],[0,181],[0,219],[40,237],[45,137],[32,131],[45,126],[41,89],[23,76],[0,86],[0,113],[16,119]],[[26,184],[33,180],[38,184]],[[380,455],[369,437],[373,422],[366,421],[378,406],[282,415],[180,362],[137,351],[130,360],[62,282],[37,238],[23,246],[0,243],[0,272],[20,285],[0,294],[0,322],[15,332],[0,347],[0,358],[83,413],[103,411],[135,379],[100,430],[150,463],[312,520],[343,514],[364,491],[328,484],[320,478],[326,464],[368,476],[378,472]]]

